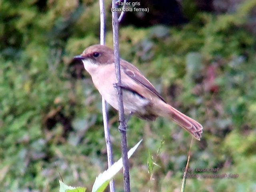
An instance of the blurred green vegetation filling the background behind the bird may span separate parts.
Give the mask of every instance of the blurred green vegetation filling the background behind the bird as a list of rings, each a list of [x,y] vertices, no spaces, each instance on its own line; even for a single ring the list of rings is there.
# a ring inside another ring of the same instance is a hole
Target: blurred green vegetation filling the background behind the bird
[[[110,1],[105,4],[112,47]],[[120,54],[168,103],[204,126],[190,168],[239,174],[188,178],[185,191],[256,191],[256,37],[245,27],[256,2],[222,14],[197,10],[188,0],[182,6],[189,18],[182,26],[122,26]],[[106,169],[101,98],[72,62],[99,43],[99,22],[98,1],[0,0],[2,191],[57,192],[60,175],[66,184],[92,186]],[[112,108],[109,118],[116,161],[120,137]],[[163,118],[132,117],[128,125],[129,148],[144,139],[130,160],[131,190],[179,191],[190,135]],[[148,158],[160,165],[150,174]],[[121,173],[115,183],[122,191]]]

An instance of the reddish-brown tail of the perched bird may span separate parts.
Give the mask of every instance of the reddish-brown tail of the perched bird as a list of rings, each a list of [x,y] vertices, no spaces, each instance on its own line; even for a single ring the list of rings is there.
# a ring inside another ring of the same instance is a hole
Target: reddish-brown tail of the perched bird
[[[177,124],[182,126],[185,130],[190,132],[197,140],[200,140],[201,134],[203,132],[203,127],[200,123],[194,119],[186,116],[182,112],[179,112],[172,106],[164,103],[164,106],[159,106],[161,109],[159,111],[160,116],[168,116],[174,120]],[[159,108],[158,108],[159,110]]]

